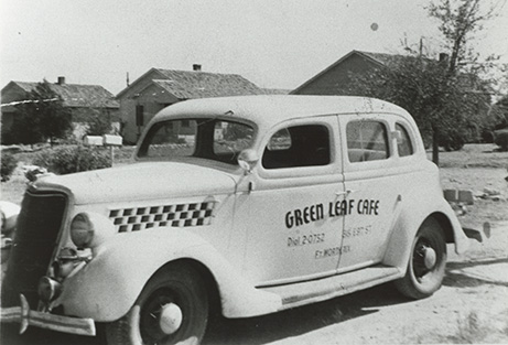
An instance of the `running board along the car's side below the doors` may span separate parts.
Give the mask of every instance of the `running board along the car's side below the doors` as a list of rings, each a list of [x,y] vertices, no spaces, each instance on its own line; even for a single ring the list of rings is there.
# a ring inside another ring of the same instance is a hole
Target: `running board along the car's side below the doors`
[[[261,288],[260,290],[280,295],[282,300],[280,310],[284,310],[329,300],[402,277],[403,273],[396,267],[374,266],[317,280]]]

